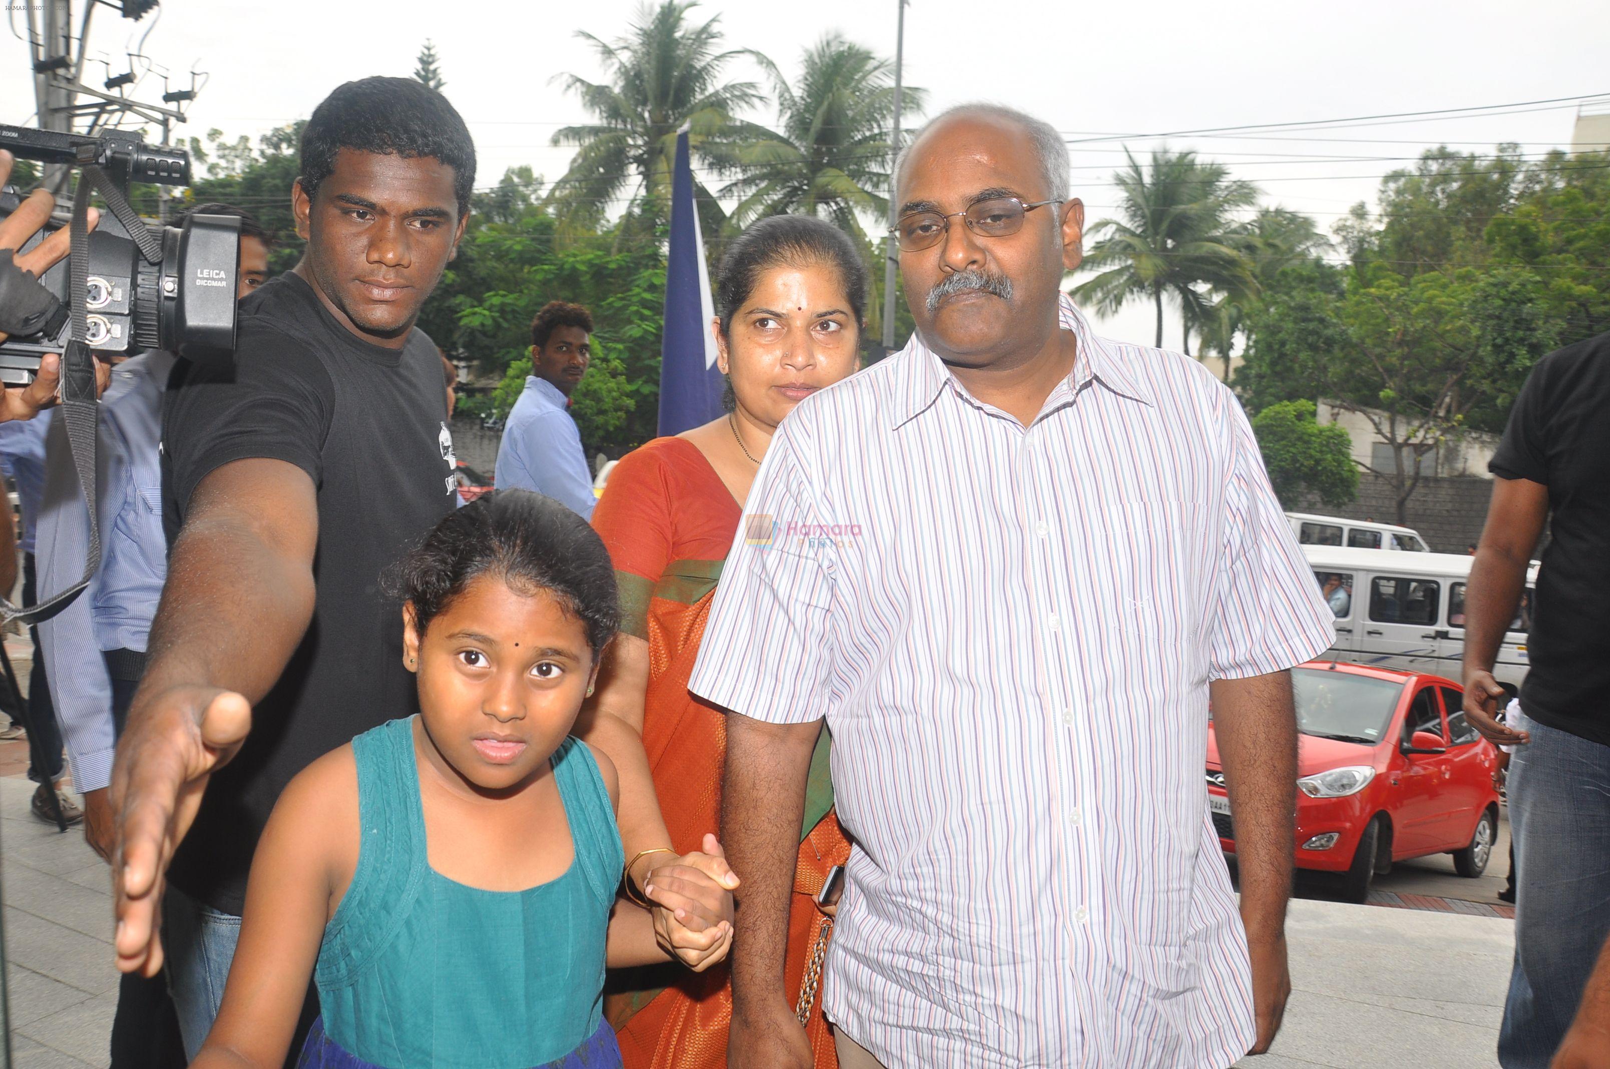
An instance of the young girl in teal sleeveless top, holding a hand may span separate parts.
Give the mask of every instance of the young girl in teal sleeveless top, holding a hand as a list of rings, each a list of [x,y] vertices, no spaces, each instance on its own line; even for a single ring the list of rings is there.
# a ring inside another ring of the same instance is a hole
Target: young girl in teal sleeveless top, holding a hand
[[[615,768],[570,737],[618,620],[610,559],[564,506],[504,491],[444,518],[399,575],[420,713],[280,795],[193,1064],[280,1066],[311,976],[301,1066],[620,1066],[604,968],[667,953],[649,913],[617,903]],[[731,926],[668,942],[708,966]]]

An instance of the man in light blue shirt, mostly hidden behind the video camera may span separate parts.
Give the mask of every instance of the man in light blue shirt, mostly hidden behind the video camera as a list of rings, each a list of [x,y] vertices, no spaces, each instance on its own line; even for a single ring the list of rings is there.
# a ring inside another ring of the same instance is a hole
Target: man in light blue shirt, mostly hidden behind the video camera
[[[237,296],[267,280],[269,233],[256,219],[227,204],[198,204],[190,213],[240,217]],[[106,787],[113,750],[145,668],[147,639],[167,578],[159,443],[163,394],[172,367],[171,353],[151,351],[113,372],[101,396],[95,449],[100,570],[79,597],[39,625],[72,784],[84,797],[84,837],[108,860],[113,818]],[[52,594],[79,580],[89,533],[66,425],[53,427],[45,440],[37,531],[42,591]],[[130,1069],[182,1064],[184,1056],[164,979],[124,974],[113,1019],[111,1064]]]

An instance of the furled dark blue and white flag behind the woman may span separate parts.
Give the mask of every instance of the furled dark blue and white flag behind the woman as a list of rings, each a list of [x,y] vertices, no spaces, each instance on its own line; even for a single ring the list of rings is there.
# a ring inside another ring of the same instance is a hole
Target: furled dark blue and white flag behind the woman
[[[687,127],[676,134],[671,174],[671,250],[665,259],[665,335],[660,341],[660,435],[679,435],[721,415],[721,369],[715,364],[710,269],[694,206]]]

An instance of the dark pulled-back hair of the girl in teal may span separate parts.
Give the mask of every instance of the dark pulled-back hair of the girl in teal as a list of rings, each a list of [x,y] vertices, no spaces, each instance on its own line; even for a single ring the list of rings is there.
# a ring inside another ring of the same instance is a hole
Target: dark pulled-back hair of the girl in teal
[[[499,489],[452,510],[396,567],[420,636],[470,581],[488,575],[522,594],[547,591],[588,629],[597,658],[620,626],[609,551],[580,515],[530,489]]]

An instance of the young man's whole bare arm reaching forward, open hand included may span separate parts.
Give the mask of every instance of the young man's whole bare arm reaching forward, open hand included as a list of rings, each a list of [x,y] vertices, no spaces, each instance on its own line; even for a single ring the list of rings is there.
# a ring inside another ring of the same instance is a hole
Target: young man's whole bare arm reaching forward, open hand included
[[[156,910],[208,776],[251,728],[312,618],[319,510],[283,460],[235,460],[201,480],[174,544],[150,663],[118,744],[111,803],[118,968],[163,964]]]

